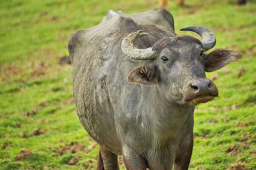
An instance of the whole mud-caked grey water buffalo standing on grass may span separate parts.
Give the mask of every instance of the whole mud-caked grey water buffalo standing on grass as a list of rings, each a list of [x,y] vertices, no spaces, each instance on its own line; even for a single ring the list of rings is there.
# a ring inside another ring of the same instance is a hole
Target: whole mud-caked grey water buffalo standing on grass
[[[194,107],[218,96],[205,71],[242,56],[215,49],[215,34],[177,35],[164,9],[126,14],[109,10],[99,25],[69,40],[78,117],[99,143],[97,169],[187,169],[193,148]]]

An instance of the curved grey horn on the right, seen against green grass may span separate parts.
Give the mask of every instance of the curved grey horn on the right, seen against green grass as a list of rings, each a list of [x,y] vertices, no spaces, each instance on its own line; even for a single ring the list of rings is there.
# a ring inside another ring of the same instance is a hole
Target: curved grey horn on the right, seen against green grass
[[[181,31],[194,31],[199,34],[202,38],[202,47],[204,50],[212,49],[216,43],[216,37],[212,30],[200,25],[186,26],[180,29]]]

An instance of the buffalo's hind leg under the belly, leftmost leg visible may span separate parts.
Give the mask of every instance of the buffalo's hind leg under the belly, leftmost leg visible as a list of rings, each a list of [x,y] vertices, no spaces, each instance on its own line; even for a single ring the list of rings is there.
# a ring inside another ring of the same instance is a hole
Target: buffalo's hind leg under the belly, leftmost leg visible
[[[97,170],[117,170],[117,155],[108,151],[104,146],[99,145],[99,157]]]

